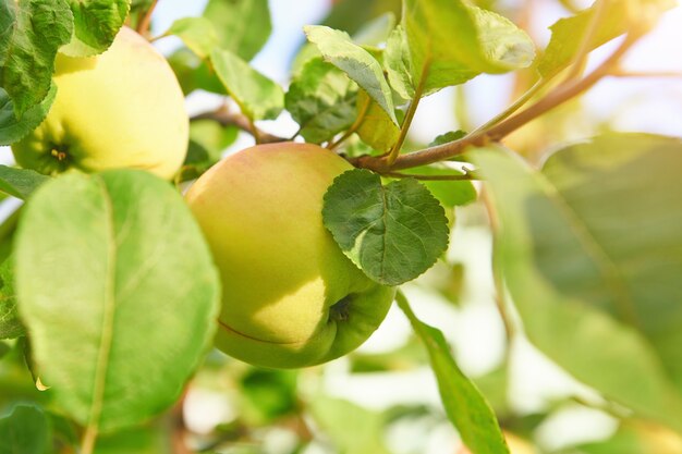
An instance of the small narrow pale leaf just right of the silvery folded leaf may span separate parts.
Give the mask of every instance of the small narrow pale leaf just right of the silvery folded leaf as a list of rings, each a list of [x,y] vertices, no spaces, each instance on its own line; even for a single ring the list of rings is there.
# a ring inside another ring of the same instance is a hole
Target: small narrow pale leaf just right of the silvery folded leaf
[[[383,52],[383,69],[391,88],[402,102],[414,98],[414,81],[412,79],[412,58],[405,30],[398,26],[388,37]]]

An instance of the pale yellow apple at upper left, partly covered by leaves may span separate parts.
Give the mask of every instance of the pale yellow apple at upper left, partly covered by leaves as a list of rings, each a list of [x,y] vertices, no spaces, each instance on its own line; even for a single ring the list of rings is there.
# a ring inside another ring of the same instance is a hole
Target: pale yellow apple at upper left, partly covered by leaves
[[[184,95],[166,59],[121,28],[100,56],[58,53],[57,97],[45,121],[12,145],[16,162],[56,174],[134,168],[171,179],[187,152]]]

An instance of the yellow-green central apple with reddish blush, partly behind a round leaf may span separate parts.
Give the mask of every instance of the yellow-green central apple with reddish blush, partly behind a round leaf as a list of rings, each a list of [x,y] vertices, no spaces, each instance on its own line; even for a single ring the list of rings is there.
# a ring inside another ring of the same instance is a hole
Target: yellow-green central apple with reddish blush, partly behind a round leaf
[[[394,287],[368,279],[322,224],[324,195],[349,169],[316,145],[258,145],[190,188],[222,280],[216,345],[224,353],[261,367],[313,366],[379,327]]]

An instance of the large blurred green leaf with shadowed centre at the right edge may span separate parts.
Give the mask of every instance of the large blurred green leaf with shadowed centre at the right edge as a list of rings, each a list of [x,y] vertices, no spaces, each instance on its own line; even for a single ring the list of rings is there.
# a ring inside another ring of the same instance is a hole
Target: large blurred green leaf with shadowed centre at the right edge
[[[471,154],[499,218],[496,263],[531,341],[610,400],[682,430],[682,143],[607,135],[543,173]],[[598,345],[598,348],[595,346]]]

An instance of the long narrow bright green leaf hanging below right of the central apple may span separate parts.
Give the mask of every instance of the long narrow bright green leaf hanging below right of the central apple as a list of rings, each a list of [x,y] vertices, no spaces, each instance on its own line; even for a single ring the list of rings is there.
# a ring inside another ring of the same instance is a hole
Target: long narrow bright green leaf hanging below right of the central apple
[[[460,370],[442,332],[422,322],[401,292],[398,292],[395,300],[428,351],[446,414],[464,444],[472,454],[509,454],[492,408]]]

